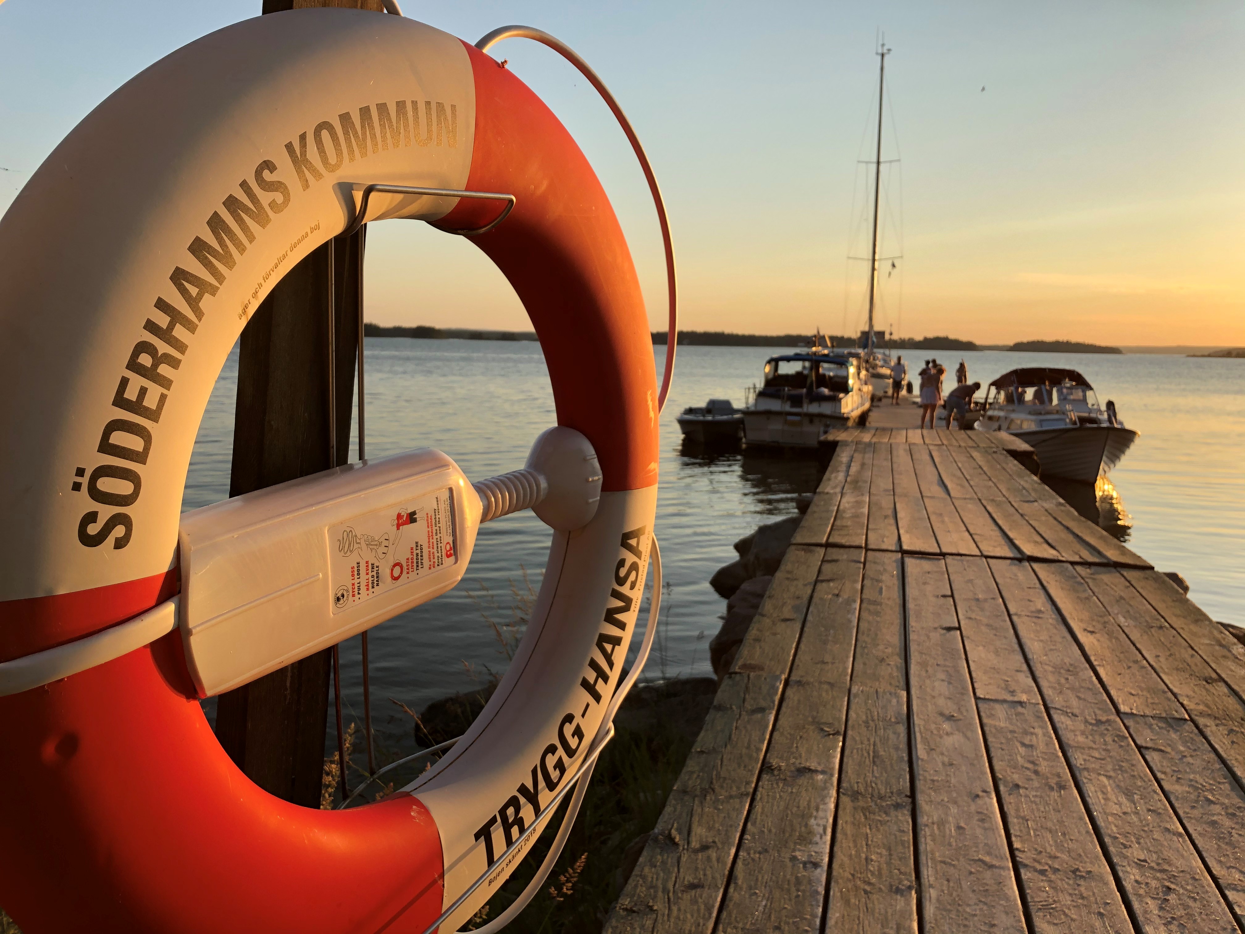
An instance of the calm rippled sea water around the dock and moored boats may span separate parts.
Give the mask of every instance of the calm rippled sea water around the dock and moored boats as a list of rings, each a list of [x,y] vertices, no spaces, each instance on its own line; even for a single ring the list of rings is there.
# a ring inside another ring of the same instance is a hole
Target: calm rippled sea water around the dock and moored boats
[[[661,366],[664,347],[656,347]],[[815,462],[801,458],[684,455],[675,416],[706,399],[742,402],[767,347],[680,347],[675,386],[662,416],[657,535],[670,590],[664,630],[649,663],[654,677],[710,672],[708,640],[725,601],[708,587],[733,560],[732,542],[758,523],[793,514],[812,492]],[[913,351],[920,362],[923,354]],[[372,339],[367,356],[367,451],[381,457],[436,447],[481,478],[523,466],[533,438],[554,423],[553,396],[539,345],[507,341]],[[1140,438],[1112,473],[1132,517],[1129,545],[1160,570],[1177,570],[1190,597],[1215,619],[1245,624],[1245,361],[1177,356],[946,354],[962,359],[982,384],[1023,365],[1071,366],[1113,399]],[[488,387],[488,391],[482,391]],[[228,494],[237,350],[230,356],[195,442],[184,508]],[[498,391],[500,390],[500,391]],[[507,655],[486,620],[513,618],[524,573],[539,587],[547,528],[530,513],[481,528],[459,587],[371,631],[372,697],[382,734],[410,730],[388,702],[420,710],[478,686],[505,669]],[[345,701],[361,714],[357,639],[344,646]],[[392,711],[392,714],[390,712]]]

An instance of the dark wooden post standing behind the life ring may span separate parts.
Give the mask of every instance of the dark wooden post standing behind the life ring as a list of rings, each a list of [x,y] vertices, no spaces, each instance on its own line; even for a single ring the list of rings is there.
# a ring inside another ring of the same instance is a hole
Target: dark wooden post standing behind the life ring
[[[264,12],[335,6],[382,12],[381,0],[264,0]],[[350,458],[351,392],[362,314],[364,232],[299,263],[242,334],[229,496],[327,469]],[[329,359],[329,263],[336,291]],[[329,438],[334,375],[336,438]],[[247,776],[280,798],[320,806],[331,650],[220,695],[217,737]]]

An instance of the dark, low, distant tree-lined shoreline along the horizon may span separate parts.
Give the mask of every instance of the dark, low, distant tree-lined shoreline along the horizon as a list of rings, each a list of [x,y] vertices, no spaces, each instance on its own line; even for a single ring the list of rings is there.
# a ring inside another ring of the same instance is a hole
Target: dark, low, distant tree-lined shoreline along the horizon
[[[503,340],[535,341],[535,331],[502,331],[486,328],[432,328],[430,325],[378,325],[371,321],[364,325],[367,337],[416,337],[421,340]],[[855,347],[857,341],[845,335],[827,335],[835,347]],[[731,331],[680,331],[679,346],[687,347],[796,347],[801,341],[808,341],[807,334],[735,334]],[[652,331],[654,345],[666,342],[666,331]],[[1043,345],[1041,349],[1033,345]],[[1066,346],[1061,346],[1066,345]],[[1107,347],[1077,341],[1018,341],[1017,344],[977,344],[959,337],[900,337],[880,341],[880,346],[890,350],[1001,350],[1017,352],[1052,354],[1150,354],[1170,356],[1228,357],[1233,349],[1221,344],[1142,344]],[[1081,347],[1084,347],[1083,350]],[[1239,350],[1239,349],[1238,349]]]

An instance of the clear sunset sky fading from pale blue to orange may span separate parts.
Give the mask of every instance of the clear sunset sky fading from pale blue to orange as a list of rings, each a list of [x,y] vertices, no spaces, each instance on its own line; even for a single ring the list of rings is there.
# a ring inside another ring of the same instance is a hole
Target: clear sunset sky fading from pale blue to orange
[[[0,209],[95,105],[259,0],[0,4]],[[1245,344],[1245,6],[1240,2],[416,4],[474,41],[522,22],[584,55],[667,198],[682,325],[854,331],[868,253],[878,31],[888,59],[878,324],[980,342]],[[605,106],[549,50],[497,57],[563,118],[665,326],[644,178]],[[982,87],[985,90],[982,90]],[[854,204],[854,207],[853,207]],[[900,223],[901,220],[901,223]],[[900,238],[901,232],[901,238]],[[367,318],[527,329],[468,242],[369,230]],[[889,264],[888,264],[889,267]]]

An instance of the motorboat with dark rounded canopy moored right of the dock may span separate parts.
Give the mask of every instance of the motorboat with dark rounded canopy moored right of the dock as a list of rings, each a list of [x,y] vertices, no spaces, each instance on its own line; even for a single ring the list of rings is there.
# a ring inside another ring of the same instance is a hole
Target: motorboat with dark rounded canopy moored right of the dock
[[[1037,452],[1042,474],[1093,483],[1104,477],[1137,440],[1116,413],[1098,405],[1089,381],[1076,370],[1026,366],[990,384],[976,431],[1006,431]]]

